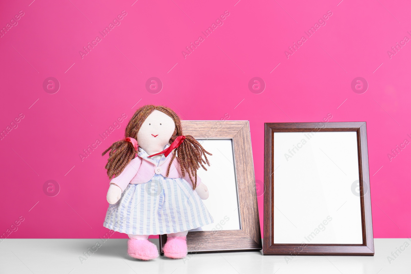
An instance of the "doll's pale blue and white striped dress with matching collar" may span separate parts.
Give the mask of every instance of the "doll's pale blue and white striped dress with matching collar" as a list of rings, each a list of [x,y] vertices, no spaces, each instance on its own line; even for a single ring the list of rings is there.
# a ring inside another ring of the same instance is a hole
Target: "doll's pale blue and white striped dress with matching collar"
[[[159,166],[164,154],[148,157],[139,147],[142,158]],[[155,174],[144,184],[129,184],[120,200],[109,205],[104,226],[132,235],[161,235],[191,230],[212,223],[213,219],[191,182]]]

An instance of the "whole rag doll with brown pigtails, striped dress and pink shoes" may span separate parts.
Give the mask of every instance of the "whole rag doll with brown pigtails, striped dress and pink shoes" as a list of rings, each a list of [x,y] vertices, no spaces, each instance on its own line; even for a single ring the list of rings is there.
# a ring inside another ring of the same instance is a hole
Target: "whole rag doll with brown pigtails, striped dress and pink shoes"
[[[184,136],[178,115],[165,106],[139,108],[125,138],[111,145],[106,164],[110,186],[104,226],[129,236],[128,254],[158,257],[149,235],[167,234],[164,256],[187,255],[188,230],[213,222],[202,200],[208,189],[197,170],[211,155],[193,136]]]

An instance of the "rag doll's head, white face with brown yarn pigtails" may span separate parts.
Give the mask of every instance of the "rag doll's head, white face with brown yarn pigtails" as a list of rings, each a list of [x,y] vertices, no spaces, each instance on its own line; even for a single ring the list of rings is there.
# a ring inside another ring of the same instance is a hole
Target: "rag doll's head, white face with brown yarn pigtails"
[[[125,138],[136,139],[138,145],[149,155],[162,151],[167,143],[173,143],[178,136],[182,135],[180,117],[165,106],[146,105],[137,109],[125,130]],[[174,158],[177,157],[182,175],[185,176],[185,173],[188,173],[193,189],[195,189],[197,170],[200,166],[207,170],[203,163],[210,166],[206,154],[211,154],[205,151],[191,135],[186,135],[175,150],[176,153],[173,153],[167,176]],[[118,176],[136,156],[134,145],[124,139],[113,143],[102,155],[107,152],[109,152],[109,160],[106,169],[110,179]]]

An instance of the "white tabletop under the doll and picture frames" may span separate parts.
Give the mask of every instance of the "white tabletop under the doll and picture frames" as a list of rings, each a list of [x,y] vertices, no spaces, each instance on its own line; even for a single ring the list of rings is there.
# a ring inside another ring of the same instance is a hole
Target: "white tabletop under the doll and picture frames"
[[[85,257],[83,253],[96,246],[97,241],[101,246]],[[152,241],[158,244],[158,240]],[[410,239],[374,239],[375,256],[292,258],[263,256],[261,252],[228,252],[189,254],[180,260],[160,256],[152,261],[139,261],[127,256],[127,239],[107,239],[103,244],[102,239],[5,239],[0,243],[0,273],[410,274],[410,244]],[[401,246],[405,250],[399,253],[397,248]],[[85,258],[82,262],[81,256]],[[393,260],[389,261],[388,256]]]

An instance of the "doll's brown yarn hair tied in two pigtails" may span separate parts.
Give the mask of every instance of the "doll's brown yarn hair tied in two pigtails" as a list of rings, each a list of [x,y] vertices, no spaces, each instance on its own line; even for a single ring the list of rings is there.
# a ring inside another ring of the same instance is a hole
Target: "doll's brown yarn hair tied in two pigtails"
[[[178,117],[178,115],[173,110],[171,110],[171,108],[167,108],[166,106],[146,105],[137,109],[136,113],[134,113],[133,117],[130,119],[126,127],[125,138],[130,137],[137,139],[137,133],[139,132],[141,125],[148,117],[148,115],[150,115],[155,110],[169,115],[174,121],[175,130],[173,136],[171,136],[169,140],[170,144],[173,143],[175,138],[183,135],[180,117]],[[102,153],[102,155],[106,154],[107,152],[109,152],[109,159],[105,168],[107,169],[107,175],[109,175],[110,179],[112,177],[118,176],[127,166],[127,164],[136,156],[136,150],[134,149],[132,143],[127,142],[124,139],[113,143]],[[182,176],[184,177],[185,173],[188,173],[188,176],[193,185],[193,189],[196,189],[197,170],[200,168],[200,166],[207,170],[204,164],[210,166],[210,163],[208,162],[206,154],[212,154],[207,152],[203,148],[203,146],[191,135],[185,136],[184,141],[179,147],[176,148],[176,152],[177,153],[173,153],[166,176],[169,175],[171,164],[173,163],[175,157],[177,157],[178,161],[180,162]]]

